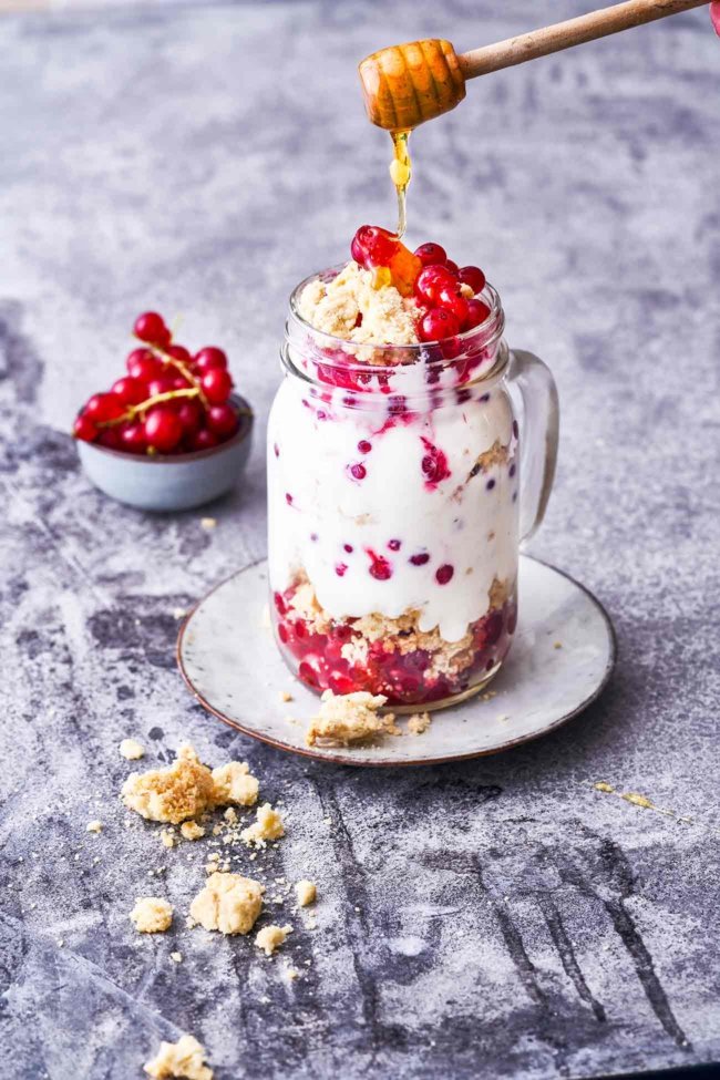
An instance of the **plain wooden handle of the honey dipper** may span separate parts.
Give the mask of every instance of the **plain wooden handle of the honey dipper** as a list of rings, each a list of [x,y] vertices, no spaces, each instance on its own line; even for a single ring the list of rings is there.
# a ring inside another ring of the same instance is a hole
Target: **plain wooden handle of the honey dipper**
[[[457,62],[464,78],[474,79],[475,75],[512,68],[526,60],[546,56],[572,45],[582,45],[586,41],[595,41],[596,38],[605,38],[619,30],[665,19],[666,16],[673,16],[679,11],[701,8],[708,2],[709,0],[626,0],[625,3],[590,11],[577,19],[568,19],[566,22],[557,22],[553,27],[533,30],[493,45],[473,49],[457,56]]]

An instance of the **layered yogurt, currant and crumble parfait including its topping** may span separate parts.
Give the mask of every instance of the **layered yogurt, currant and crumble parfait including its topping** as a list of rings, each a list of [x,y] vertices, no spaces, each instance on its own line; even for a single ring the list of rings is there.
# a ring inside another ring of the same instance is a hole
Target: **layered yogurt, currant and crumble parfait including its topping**
[[[319,692],[438,708],[493,678],[517,623],[513,356],[479,267],[371,226],[351,254],[290,298],[268,429],[274,627]]]

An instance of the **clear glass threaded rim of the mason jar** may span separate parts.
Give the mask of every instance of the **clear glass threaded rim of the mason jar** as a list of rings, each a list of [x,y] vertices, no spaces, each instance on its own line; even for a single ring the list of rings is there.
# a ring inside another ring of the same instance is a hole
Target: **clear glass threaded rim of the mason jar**
[[[361,370],[367,370],[369,367],[409,367],[418,362],[422,362],[425,367],[448,367],[450,364],[462,362],[464,359],[466,359],[467,348],[462,348],[462,346],[472,347],[473,350],[492,348],[503,337],[505,330],[505,312],[500,299],[500,294],[488,281],[485,282],[485,287],[483,288],[482,292],[479,294],[479,296],[487,304],[490,315],[484,322],[480,323],[480,326],[474,327],[472,330],[465,330],[462,333],[455,335],[453,340],[460,342],[461,348],[453,357],[448,357],[443,353],[443,341],[420,341],[410,344],[376,343],[374,341],[360,342],[351,341],[348,338],[340,338],[337,335],[328,333],[325,330],[318,330],[317,327],[313,327],[311,322],[308,322],[308,320],[302,318],[300,315],[298,302],[300,294],[308,285],[310,285],[311,281],[316,281],[318,278],[328,281],[333,280],[333,278],[337,277],[342,269],[344,269],[346,265],[347,264],[342,263],[337,266],[328,267],[326,270],[319,270],[315,274],[310,274],[295,287],[290,294],[290,313],[286,322],[286,338],[288,339],[288,342],[290,340],[290,323],[292,322],[296,323],[302,331],[311,335],[312,339],[322,349],[344,353],[349,353],[350,349],[357,350],[358,352],[363,349],[371,349],[373,353],[388,358],[384,363],[382,360],[372,364],[362,361],[352,363],[349,354],[348,361],[343,359],[337,364],[338,367],[341,366],[343,368],[359,368]],[[393,356],[393,353],[401,353],[403,359],[392,363],[390,358]],[[493,369],[494,367],[495,364],[492,366]],[[487,374],[490,374],[490,371]]]

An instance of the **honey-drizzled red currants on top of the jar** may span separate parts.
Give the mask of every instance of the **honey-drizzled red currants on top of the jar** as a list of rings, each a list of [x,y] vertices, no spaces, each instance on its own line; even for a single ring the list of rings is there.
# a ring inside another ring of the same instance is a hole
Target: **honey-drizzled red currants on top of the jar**
[[[479,294],[485,275],[479,266],[459,267],[440,244],[421,244],[410,251],[394,233],[377,225],[363,225],[350,245],[356,263],[364,269],[387,267],[391,281],[403,296],[412,295],[420,307],[418,336],[421,341],[442,341],[474,330],[490,316]],[[463,296],[469,286],[472,296]]]

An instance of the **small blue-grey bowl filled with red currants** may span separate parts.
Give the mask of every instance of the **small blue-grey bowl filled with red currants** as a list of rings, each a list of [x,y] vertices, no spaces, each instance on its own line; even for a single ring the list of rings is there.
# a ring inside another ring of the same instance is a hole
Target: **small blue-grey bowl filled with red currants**
[[[202,506],[239,480],[250,453],[253,411],[233,392],[222,349],[191,353],[155,311],[141,315],[133,333],[137,348],[126,374],[78,414],[80,461],[96,487],[130,506]]]

